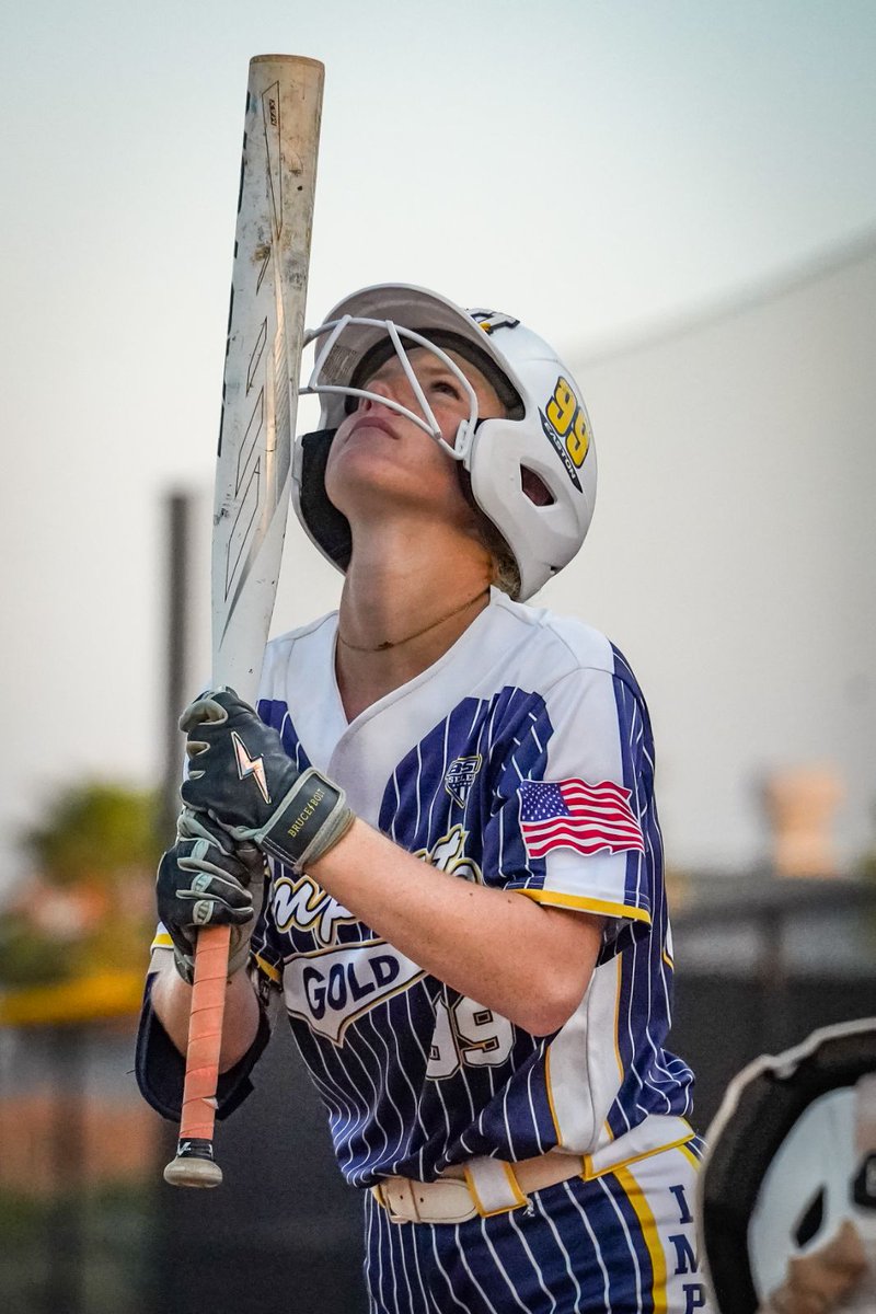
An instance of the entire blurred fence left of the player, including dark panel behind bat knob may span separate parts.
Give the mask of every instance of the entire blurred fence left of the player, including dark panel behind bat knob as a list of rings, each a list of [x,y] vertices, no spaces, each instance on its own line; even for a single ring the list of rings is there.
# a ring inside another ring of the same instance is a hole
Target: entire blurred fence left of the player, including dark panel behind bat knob
[[[176,1129],[134,1080],[126,989],[123,1016],[88,1022],[63,989],[0,1000],[3,1314],[364,1311],[360,1198],[288,1029],[218,1127],[222,1189],[179,1190],[162,1179]]]

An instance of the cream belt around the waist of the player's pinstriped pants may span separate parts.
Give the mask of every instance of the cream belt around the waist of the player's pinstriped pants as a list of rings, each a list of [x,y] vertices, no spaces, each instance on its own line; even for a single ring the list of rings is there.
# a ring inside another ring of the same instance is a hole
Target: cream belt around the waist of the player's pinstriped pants
[[[582,1155],[549,1150],[535,1159],[470,1159],[447,1168],[437,1181],[383,1177],[373,1188],[394,1223],[464,1223],[528,1205],[535,1190],[584,1175]]]

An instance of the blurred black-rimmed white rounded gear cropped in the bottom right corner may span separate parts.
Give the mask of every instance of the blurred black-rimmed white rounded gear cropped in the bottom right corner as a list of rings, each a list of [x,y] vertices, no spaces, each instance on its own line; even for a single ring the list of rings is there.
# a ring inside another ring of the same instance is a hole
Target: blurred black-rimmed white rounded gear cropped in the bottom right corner
[[[749,1064],[707,1143],[700,1246],[721,1314],[809,1309],[825,1284],[825,1309],[876,1307],[876,1018]]]

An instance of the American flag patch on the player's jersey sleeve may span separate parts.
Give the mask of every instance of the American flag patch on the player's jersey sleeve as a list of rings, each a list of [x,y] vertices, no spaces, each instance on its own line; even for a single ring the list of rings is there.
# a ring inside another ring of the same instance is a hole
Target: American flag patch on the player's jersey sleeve
[[[642,830],[629,805],[632,790],[613,781],[524,781],[520,829],[531,858],[552,849],[577,853],[645,853]]]

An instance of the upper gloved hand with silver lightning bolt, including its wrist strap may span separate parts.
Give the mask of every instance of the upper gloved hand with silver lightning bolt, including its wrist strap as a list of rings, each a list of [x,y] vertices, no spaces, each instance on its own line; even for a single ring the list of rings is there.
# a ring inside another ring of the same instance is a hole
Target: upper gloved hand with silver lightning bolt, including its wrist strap
[[[298,771],[277,732],[232,689],[202,694],[180,717],[188,733],[183,802],[238,841],[302,871],[352,825],[344,791],[319,771]]]

